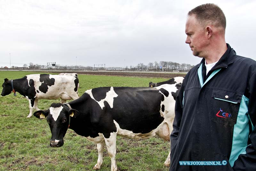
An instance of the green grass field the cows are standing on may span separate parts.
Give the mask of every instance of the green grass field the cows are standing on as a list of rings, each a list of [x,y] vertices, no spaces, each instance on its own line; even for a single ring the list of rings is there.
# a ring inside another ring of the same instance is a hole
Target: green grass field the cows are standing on
[[[0,71],[4,78],[22,78],[36,72]],[[49,73],[51,74],[51,73]],[[56,73],[55,73],[56,74]],[[86,90],[101,86],[148,86],[148,82],[160,82],[162,78],[110,77],[78,75],[82,95]],[[2,90],[2,89],[1,89]],[[38,107],[47,109],[60,100],[39,100]],[[0,96],[0,171],[2,170],[92,170],[97,163],[96,145],[87,138],[68,129],[64,145],[50,147],[51,131],[45,119],[40,120],[29,113],[28,100],[17,93]],[[35,111],[35,110],[34,110]],[[121,171],[167,171],[164,161],[170,149],[169,142],[153,137],[146,140],[117,138],[116,162]],[[111,161],[104,149],[101,171],[110,171]]]

